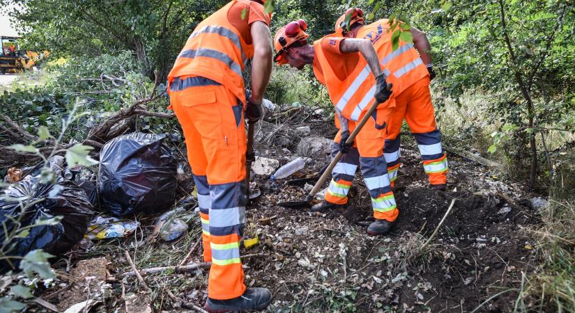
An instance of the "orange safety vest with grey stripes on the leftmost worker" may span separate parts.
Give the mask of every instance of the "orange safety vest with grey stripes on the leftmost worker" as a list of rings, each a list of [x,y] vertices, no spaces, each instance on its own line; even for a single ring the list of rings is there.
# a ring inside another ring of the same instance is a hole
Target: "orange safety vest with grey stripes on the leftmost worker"
[[[221,83],[245,103],[242,71],[254,56],[254,46],[247,45],[227,18],[237,1],[247,0],[230,1],[194,29],[168,74],[169,82],[187,75],[206,77]]]

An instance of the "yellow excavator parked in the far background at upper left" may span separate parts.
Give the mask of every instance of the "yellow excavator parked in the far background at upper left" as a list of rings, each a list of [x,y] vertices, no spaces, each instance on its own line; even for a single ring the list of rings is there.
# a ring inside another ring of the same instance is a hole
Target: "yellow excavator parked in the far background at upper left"
[[[49,55],[50,52],[20,50],[18,44],[20,37],[10,37],[0,35],[0,74],[8,72],[22,72],[31,70],[34,65],[40,65]]]

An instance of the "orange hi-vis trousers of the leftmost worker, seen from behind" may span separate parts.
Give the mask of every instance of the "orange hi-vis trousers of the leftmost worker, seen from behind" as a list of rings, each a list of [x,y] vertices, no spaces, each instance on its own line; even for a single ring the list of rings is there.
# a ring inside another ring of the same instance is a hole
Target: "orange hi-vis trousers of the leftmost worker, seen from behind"
[[[204,77],[172,80],[169,95],[197,186],[204,261],[212,262],[208,297],[236,298],[245,291],[240,261],[247,202],[243,104]]]

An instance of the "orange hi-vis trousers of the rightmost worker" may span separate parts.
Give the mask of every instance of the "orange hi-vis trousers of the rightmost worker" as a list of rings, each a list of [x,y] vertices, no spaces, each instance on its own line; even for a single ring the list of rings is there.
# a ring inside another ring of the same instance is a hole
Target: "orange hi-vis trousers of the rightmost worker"
[[[429,77],[417,81],[395,97],[395,109],[390,116],[388,134],[383,148],[392,186],[397,179],[397,172],[401,165],[399,133],[404,118],[419,146],[423,168],[429,177],[429,183],[445,184],[449,166],[447,156],[441,148],[441,135],[436,127],[434,105],[431,104],[429,92]]]

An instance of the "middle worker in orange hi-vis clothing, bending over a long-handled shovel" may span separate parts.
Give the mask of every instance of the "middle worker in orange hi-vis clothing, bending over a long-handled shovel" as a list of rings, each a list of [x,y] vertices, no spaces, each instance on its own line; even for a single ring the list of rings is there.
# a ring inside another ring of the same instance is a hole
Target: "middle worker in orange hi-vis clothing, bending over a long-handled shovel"
[[[309,45],[305,29],[307,24],[302,19],[279,29],[274,38],[277,51],[274,60],[300,70],[306,64],[313,66],[316,79],[328,89],[339,121],[332,154],[344,153],[332,170],[325,202],[314,205],[312,211],[344,207],[359,163],[376,219],[367,232],[386,234],[399,213],[383,157],[385,127],[394,106],[387,101],[392,86],[385,80],[385,70],[378,61],[378,54],[387,52],[377,42],[372,45],[367,39],[348,39],[336,34]],[[353,146],[347,145],[350,131],[365,116],[374,98],[380,103],[378,109],[358,133]]]

